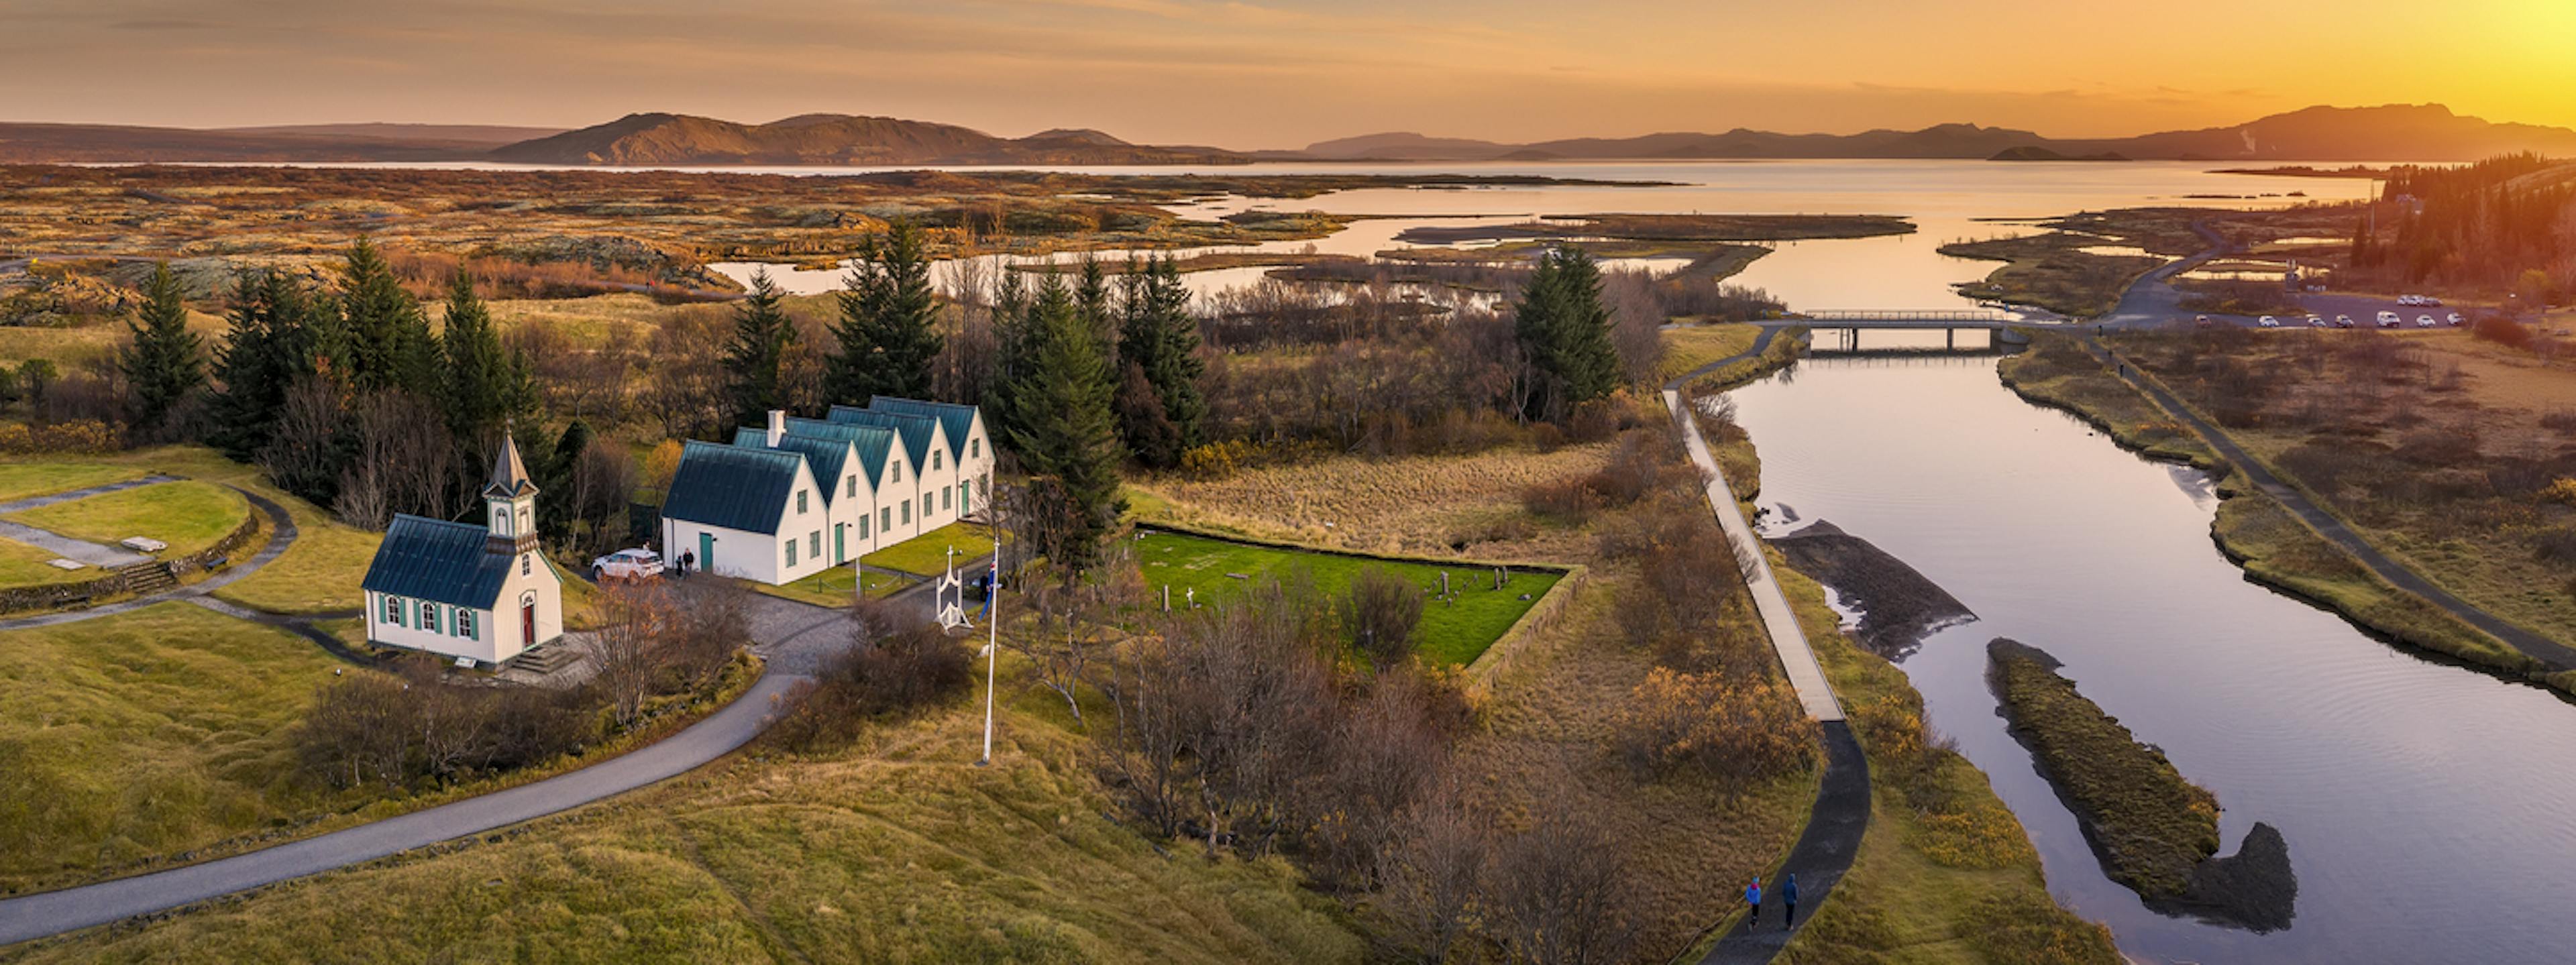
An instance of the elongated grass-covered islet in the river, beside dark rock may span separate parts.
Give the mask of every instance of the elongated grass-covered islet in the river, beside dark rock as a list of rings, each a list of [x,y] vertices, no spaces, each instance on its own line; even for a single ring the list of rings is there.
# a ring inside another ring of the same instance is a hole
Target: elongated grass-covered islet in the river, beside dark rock
[[[1986,654],[1986,682],[2012,736],[2074,800],[2110,880],[2146,898],[2179,898],[2192,867],[2218,854],[2218,798],[2084,700],[2048,654],[2012,641],[1994,641]]]

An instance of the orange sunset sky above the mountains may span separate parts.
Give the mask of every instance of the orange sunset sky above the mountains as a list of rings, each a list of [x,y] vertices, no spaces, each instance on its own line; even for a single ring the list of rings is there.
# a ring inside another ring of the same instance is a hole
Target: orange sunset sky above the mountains
[[[0,0],[0,121],[832,111],[1239,149],[1942,121],[2115,136],[2311,103],[2576,126],[2576,0]]]

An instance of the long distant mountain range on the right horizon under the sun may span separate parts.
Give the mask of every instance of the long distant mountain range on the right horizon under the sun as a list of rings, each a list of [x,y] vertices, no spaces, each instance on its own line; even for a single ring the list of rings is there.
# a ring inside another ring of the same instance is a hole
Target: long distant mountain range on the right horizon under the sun
[[[2352,162],[2465,162],[2506,152],[2576,157],[2576,131],[2537,124],[2491,124],[2427,106],[2306,108],[2251,124],[2164,131],[2125,139],[2050,139],[2035,131],[1976,124],[1937,124],[1922,131],[1775,134],[1646,134],[1623,139],[1561,139],[1497,144],[1422,134],[1368,134],[1309,144],[1303,152],[1260,157],[1303,160],[1790,160],[1790,157],[1960,157],[2048,152],[2056,157],[2117,154],[2133,160],[2352,160]],[[2030,154],[2032,160],[2045,154]]]

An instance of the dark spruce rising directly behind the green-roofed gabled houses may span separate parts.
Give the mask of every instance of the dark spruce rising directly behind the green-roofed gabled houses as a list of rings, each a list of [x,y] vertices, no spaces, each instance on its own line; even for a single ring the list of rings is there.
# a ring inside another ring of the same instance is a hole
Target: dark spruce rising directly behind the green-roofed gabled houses
[[[927,399],[930,365],[940,355],[938,322],[922,232],[896,221],[884,239],[868,239],[840,293],[840,322],[832,324],[840,353],[827,363],[824,391],[848,404]]]

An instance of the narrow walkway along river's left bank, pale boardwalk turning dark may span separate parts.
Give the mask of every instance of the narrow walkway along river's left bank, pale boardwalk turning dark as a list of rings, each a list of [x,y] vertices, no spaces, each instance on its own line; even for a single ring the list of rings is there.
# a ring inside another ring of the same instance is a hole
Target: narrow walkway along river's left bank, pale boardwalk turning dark
[[[1718,471],[1718,461],[1710,455],[1708,440],[1700,435],[1700,422],[1690,414],[1690,396],[1685,389],[1695,378],[1716,373],[1726,365],[1759,358],[1777,335],[1777,327],[1765,327],[1762,335],[1754,337],[1754,345],[1744,353],[1700,365],[1664,383],[1664,407],[1672,409],[1672,425],[1682,432],[1682,448],[1690,450],[1690,461],[1708,481],[1708,510],[1718,517],[1718,528],[1726,530],[1726,538],[1747,548],[1759,546],[1759,538],[1744,520],[1744,507],[1736,504],[1734,489],[1726,486],[1726,473]],[[1852,870],[1852,859],[1860,857],[1860,839],[1870,831],[1870,759],[1860,751],[1852,726],[1842,718],[1842,700],[1834,697],[1834,685],[1824,679],[1824,666],[1816,664],[1816,651],[1806,641],[1806,628],[1798,625],[1798,612],[1790,610],[1788,597],[1780,592],[1780,582],[1772,576],[1770,561],[1762,558],[1759,551],[1752,553],[1752,558],[1754,566],[1744,574],[1744,587],[1754,597],[1754,612],[1762,618],[1762,633],[1770,636],[1772,651],[1780,656],[1780,669],[1798,692],[1798,703],[1821,723],[1824,780],[1816,785],[1816,805],[1806,816],[1806,829],[1798,831],[1798,844],[1790,847],[1788,857],[1777,867],[1777,872],[1798,875],[1801,898],[1814,919],[1816,908],[1821,908],[1834,893],[1834,885],[1842,883],[1842,875]],[[1767,898],[1772,906],[1780,903],[1775,890],[1767,890]],[[1785,921],[1780,914],[1783,911],[1772,911],[1770,921]],[[1752,916],[1744,916],[1736,919],[1734,929],[1718,937],[1700,962],[1762,965],[1780,955],[1795,934],[1795,929],[1783,926],[1754,926]]]

